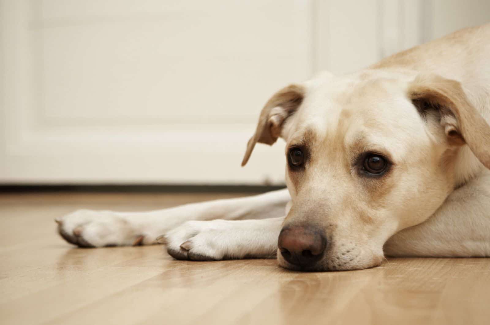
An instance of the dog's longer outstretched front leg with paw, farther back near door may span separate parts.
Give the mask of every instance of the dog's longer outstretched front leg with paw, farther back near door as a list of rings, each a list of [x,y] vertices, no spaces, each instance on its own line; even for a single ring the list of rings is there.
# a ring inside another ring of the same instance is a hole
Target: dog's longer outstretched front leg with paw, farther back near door
[[[83,247],[156,244],[156,238],[189,220],[259,219],[284,216],[288,190],[192,203],[149,212],[78,210],[56,219],[59,234]]]

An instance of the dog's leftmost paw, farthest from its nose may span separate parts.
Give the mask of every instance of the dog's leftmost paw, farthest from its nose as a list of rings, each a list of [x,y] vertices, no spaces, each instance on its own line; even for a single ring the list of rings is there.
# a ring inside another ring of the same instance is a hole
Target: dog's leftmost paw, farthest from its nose
[[[55,221],[60,236],[80,247],[148,244],[129,220],[112,211],[78,210]]]

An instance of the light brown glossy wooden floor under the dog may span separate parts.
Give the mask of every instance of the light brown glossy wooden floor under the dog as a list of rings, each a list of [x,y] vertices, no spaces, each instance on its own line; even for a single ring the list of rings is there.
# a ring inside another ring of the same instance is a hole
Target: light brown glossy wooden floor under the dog
[[[75,248],[54,217],[239,194],[0,194],[0,324],[490,324],[490,259],[301,273],[181,262],[162,246]]]

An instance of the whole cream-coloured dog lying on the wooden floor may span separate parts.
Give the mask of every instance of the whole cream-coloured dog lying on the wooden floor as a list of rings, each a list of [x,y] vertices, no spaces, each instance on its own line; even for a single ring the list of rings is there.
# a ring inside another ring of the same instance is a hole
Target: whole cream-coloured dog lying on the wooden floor
[[[57,219],[83,247],[166,242],[179,260],[271,257],[293,270],[390,256],[490,256],[490,24],[345,76],[287,86],[257,142],[286,141],[287,189],[143,213]],[[164,236],[161,236],[164,235]]]

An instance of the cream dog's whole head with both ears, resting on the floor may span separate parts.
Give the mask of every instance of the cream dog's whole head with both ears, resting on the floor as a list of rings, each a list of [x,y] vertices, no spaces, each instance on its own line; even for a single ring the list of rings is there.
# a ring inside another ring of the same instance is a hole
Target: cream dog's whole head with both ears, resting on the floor
[[[490,167],[489,125],[459,82],[433,75],[365,71],[281,89],[243,164],[257,142],[278,137],[292,196],[278,259],[294,270],[381,264],[394,233],[430,217],[481,163]]]

